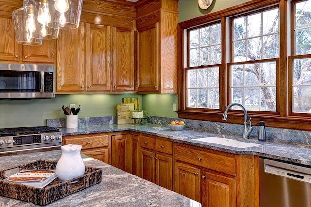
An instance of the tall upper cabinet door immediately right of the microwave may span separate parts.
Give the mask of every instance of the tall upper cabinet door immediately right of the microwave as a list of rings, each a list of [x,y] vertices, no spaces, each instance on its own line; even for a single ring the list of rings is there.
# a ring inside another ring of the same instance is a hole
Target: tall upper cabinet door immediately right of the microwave
[[[85,90],[85,23],[73,30],[61,30],[57,38],[57,92]]]

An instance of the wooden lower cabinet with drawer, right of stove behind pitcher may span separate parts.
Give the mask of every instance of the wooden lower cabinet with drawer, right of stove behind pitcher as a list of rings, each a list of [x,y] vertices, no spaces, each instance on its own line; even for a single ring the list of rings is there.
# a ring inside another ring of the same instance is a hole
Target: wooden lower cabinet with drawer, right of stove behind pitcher
[[[63,145],[79,144],[81,153],[110,164],[109,136],[106,133],[63,136]]]

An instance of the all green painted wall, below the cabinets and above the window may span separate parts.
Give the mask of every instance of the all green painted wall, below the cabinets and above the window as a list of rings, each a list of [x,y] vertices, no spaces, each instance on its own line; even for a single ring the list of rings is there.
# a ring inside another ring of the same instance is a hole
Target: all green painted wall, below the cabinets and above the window
[[[211,7],[202,10],[197,0],[179,0],[179,22],[215,12],[247,0],[214,0]],[[38,100],[1,100],[0,128],[30,127],[46,125],[46,119],[65,118],[62,105],[81,104],[79,117],[115,116],[116,105],[123,97],[141,98],[141,106],[149,115],[178,117],[173,112],[173,103],[177,103],[177,94],[148,95],[56,95],[52,99]]]

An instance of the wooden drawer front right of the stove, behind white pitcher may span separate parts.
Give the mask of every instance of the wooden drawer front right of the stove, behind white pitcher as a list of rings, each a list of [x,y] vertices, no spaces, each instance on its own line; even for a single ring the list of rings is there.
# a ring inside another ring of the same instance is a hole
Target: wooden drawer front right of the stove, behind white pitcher
[[[96,147],[108,147],[108,135],[99,135],[99,136],[86,136],[79,138],[65,138],[66,144],[79,144],[82,146],[82,149],[91,149]]]

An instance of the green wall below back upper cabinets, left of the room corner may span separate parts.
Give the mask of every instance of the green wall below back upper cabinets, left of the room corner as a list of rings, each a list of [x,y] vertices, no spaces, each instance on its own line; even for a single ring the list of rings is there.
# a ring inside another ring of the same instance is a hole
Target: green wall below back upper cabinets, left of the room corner
[[[79,117],[116,116],[116,106],[124,97],[138,97],[139,94],[76,94],[56,95],[51,99],[1,100],[0,127],[44,126],[46,119],[66,118],[62,105],[81,105]]]

